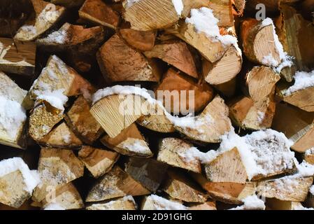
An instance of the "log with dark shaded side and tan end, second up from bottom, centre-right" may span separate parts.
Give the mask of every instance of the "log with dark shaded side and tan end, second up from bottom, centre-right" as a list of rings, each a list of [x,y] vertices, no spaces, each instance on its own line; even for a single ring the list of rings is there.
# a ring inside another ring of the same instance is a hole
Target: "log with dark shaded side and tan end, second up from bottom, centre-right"
[[[170,197],[183,202],[205,203],[208,199],[208,196],[202,193],[202,190],[196,184],[178,170],[169,170],[167,172],[167,179],[162,189]]]

